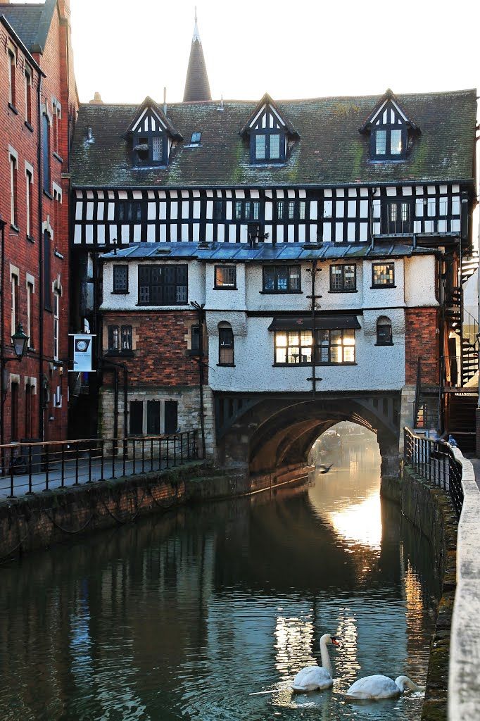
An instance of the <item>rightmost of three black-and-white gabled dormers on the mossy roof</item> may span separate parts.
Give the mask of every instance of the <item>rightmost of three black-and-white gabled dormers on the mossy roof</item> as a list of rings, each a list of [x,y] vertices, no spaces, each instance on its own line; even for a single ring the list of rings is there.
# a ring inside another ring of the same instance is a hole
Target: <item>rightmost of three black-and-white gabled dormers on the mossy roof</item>
[[[409,140],[419,129],[388,89],[359,131],[370,133],[370,160],[391,162],[406,158]]]

